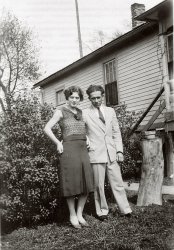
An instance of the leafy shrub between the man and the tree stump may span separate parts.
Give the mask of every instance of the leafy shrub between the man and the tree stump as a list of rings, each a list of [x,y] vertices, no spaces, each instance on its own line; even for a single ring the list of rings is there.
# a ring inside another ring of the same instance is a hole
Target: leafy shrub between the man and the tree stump
[[[139,178],[140,162],[142,160],[141,135],[136,134],[130,138],[130,131],[142,112],[128,111],[126,105],[114,107],[114,109],[117,114],[123,140],[124,162],[120,163],[123,178]]]

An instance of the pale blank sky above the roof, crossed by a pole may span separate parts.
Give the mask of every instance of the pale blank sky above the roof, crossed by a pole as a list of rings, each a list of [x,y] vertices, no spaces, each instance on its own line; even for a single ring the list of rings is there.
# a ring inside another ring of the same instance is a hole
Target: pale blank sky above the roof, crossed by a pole
[[[131,4],[144,4],[148,10],[160,2],[78,0],[84,54],[90,53],[86,44],[97,31],[111,36],[115,31],[130,30]],[[0,0],[0,13],[3,11],[10,11],[32,29],[40,47],[41,79],[80,58],[75,0]]]

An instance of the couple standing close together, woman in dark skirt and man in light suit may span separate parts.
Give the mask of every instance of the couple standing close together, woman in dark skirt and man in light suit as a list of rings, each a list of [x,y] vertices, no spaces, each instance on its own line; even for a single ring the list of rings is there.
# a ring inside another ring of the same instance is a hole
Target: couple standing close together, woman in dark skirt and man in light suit
[[[66,105],[56,110],[44,128],[57,145],[61,194],[67,200],[70,223],[76,229],[89,226],[83,217],[83,209],[90,192],[94,192],[97,218],[101,221],[107,219],[109,209],[104,192],[105,173],[121,214],[130,216],[132,212],[118,165],[123,161],[123,145],[115,111],[102,104],[102,86],[90,85],[86,93],[91,106],[82,111],[77,108],[79,102],[83,101],[82,90],[77,86],[66,89]],[[52,132],[57,122],[62,141]],[[77,208],[75,197],[78,199]]]

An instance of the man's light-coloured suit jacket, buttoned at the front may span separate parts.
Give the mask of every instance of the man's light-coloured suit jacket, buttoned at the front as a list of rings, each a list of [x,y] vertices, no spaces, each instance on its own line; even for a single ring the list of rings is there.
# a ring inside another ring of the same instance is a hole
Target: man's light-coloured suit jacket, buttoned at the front
[[[116,160],[117,151],[123,152],[123,144],[118,120],[113,108],[103,106],[105,124],[99,119],[95,108],[83,110],[83,118],[90,140],[89,157],[91,163],[106,163]]]

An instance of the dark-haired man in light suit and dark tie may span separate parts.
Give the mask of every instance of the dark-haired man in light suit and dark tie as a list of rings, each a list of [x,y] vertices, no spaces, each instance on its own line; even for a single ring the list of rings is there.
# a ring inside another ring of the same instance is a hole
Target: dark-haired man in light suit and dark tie
[[[94,199],[97,217],[105,220],[109,212],[104,192],[105,172],[120,212],[130,216],[132,211],[118,165],[118,162],[123,161],[123,144],[115,111],[102,104],[104,96],[102,86],[91,85],[86,93],[92,104],[83,111],[83,114],[90,142],[89,156],[94,172]]]

